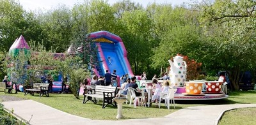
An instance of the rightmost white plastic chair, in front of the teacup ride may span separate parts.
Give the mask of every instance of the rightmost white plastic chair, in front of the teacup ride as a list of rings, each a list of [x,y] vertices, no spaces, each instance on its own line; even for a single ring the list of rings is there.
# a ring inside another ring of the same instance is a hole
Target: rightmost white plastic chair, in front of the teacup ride
[[[176,91],[177,91],[177,89],[170,88],[169,92],[161,92],[158,107],[160,108],[161,99],[164,99],[164,104],[166,105],[166,103],[167,103],[168,109],[170,109],[170,100],[171,100],[171,104],[173,101],[173,107],[175,108],[174,94]]]

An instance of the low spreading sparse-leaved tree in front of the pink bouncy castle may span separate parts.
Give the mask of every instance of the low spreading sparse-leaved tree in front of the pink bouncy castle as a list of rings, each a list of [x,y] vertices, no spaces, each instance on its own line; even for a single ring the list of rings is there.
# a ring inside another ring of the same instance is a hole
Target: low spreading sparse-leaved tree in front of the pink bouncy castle
[[[38,45],[38,46],[35,46]],[[47,51],[40,43],[31,45],[30,54],[20,50],[19,54],[6,59],[6,68],[9,73],[15,72],[19,84],[30,85],[41,82],[41,75],[48,70],[49,74],[61,73],[70,78],[70,90],[76,98],[79,98],[79,87],[84,78],[90,76],[90,72],[83,63],[83,59],[76,55],[55,55],[54,50]]]

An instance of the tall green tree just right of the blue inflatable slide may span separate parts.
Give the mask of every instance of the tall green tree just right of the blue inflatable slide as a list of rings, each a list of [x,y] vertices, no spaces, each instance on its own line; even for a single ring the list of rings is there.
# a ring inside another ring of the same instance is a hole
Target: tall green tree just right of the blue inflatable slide
[[[125,27],[125,31],[120,33],[127,48],[129,61],[135,74],[143,71],[150,71],[150,60],[148,57],[152,55],[152,48],[156,46],[156,42],[150,35],[152,22],[148,18],[147,12],[143,10],[126,11],[121,19]]]

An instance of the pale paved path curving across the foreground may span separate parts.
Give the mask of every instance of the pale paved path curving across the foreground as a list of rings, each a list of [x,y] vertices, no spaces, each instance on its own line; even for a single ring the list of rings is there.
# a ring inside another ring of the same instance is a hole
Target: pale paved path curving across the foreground
[[[4,108],[13,110],[19,117],[30,124],[111,124],[111,125],[160,125],[160,124],[218,124],[223,112],[234,108],[256,107],[256,104],[237,104],[237,105],[209,105],[200,107],[189,107],[173,112],[165,117],[148,119],[129,119],[120,121],[92,120],[76,115],[67,114],[55,108],[49,107],[33,100],[4,101]],[[19,107],[19,108],[17,108]]]

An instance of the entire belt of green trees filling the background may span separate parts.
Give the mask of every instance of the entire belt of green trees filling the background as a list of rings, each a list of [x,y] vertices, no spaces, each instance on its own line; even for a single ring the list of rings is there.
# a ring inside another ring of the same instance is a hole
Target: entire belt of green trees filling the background
[[[70,43],[88,48],[83,63],[92,70],[95,53],[90,53],[94,48],[85,34],[106,30],[124,41],[135,75],[158,74],[157,69],[169,66],[167,60],[177,53],[202,63],[208,74],[228,71],[236,90],[240,72],[256,70],[253,0],[204,0],[189,7],[153,3],[147,8],[130,0],[113,6],[96,0],[77,3],[72,10],[60,5],[47,13],[27,13],[13,0],[0,3],[1,54],[22,34],[26,40],[42,42],[46,50],[64,52]]]

